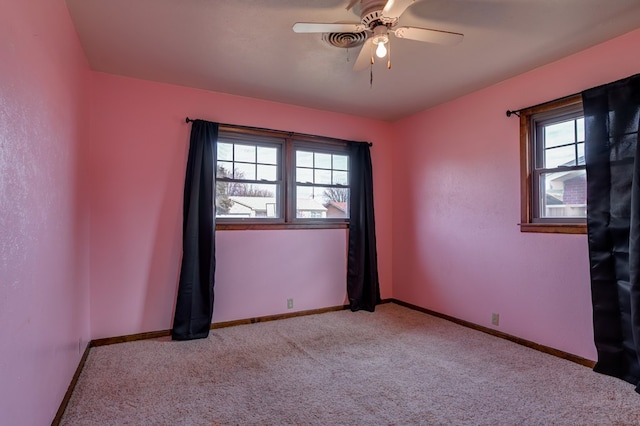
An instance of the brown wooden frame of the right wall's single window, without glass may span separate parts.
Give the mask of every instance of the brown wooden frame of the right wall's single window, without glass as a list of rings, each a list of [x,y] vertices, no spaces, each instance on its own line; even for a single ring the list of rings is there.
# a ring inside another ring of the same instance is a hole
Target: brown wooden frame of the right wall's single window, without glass
[[[542,175],[534,164],[536,150],[541,153],[544,147],[537,143],[536,124],[556,118],[577,118],[583,116],[582,95],[573,95],[520,111],[520,196],[521,196],[521,232],[542,232],[560,234],[586,234],[586,219],[582,218],[538,218],[534,209],[538,208],[538,191],[534,188],[537,180],[534,174]],[[576,166],[572,169],[580,169]],[[549,169],[541,169],[549,170]],[[536,197],[536,198],[534,198]]]

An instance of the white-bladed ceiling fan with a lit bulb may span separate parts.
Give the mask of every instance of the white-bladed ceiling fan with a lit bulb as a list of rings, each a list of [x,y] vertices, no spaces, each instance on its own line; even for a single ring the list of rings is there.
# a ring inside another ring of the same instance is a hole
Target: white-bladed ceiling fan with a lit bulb
[[[449,31],[432,30],[419,27],[398,27],[398,20],[402,13],[417,0],[350,0],[347,10],[351,10],[359,4],[360,23],[316,23],[296,22],[293,31],[296,33],[365,33],[366,39],[360,50],[360,54],[353,66],[354,71],[360,71],[373,64],[373,51],[376,56],[384,58],[389,47],[389,35],[397,38],[435,43],[442,45],[455,45],[462,41],[462,34]],[[391,68],[391,61],[388,61]]]

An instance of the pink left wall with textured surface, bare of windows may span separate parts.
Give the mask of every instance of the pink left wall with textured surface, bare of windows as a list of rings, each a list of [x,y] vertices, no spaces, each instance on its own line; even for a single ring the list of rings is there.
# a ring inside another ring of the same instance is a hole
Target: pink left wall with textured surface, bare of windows
[[[0,2],[0,64],[0,424],[43,425],[89,340],[89,68],[64,2]]]

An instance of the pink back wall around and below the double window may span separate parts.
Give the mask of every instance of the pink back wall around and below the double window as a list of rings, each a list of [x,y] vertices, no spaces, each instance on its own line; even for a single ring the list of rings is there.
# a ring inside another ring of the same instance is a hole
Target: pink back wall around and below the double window
[[[191,126],[222,123],[369,140],[382,296],[391,297],[391,124],[107,74],[93,75],[91,336],[171,327]],[[346,232],[218,232],[214,322],[341,305]]]

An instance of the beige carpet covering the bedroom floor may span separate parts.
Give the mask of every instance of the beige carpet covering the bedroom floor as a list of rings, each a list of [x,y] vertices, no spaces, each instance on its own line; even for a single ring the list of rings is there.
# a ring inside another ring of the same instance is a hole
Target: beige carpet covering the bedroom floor
[[[93,348],[64,425],[638,425],[589,368],[395,304]]]

